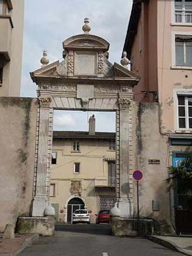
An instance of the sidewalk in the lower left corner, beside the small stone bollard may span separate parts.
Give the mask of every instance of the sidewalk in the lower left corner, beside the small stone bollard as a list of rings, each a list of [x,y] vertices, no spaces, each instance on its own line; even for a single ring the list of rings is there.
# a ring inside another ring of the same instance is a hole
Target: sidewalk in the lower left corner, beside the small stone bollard
[[[0,234],[0,237],[1,234]],[[39,238],[39,234],[15,234],[14,239],[0,239],[0,256],[16,256],[23,249],[32,245]]]

